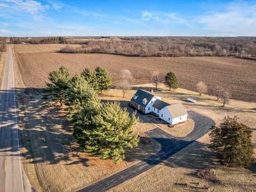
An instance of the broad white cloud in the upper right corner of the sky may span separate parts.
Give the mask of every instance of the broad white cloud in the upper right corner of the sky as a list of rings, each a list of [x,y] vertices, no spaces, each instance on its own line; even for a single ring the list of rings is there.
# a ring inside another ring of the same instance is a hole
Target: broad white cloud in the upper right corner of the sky
[[[226,11],[199,15],[195,20],[221,36],[255,36],[256,4],[231,3]]]

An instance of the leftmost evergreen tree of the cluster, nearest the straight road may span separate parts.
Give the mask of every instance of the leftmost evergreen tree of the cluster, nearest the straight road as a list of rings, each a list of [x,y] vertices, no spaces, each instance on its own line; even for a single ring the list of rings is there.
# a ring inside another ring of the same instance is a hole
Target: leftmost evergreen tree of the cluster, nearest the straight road
[[[46,83],[46,89],[50,92],[52,100],[59,101],[60,106],[62,106],[62,102],[66,99],[68,82],[71,78],[68,69],[61,66],[59,70],[50,72],[48,78],[51,83]]]

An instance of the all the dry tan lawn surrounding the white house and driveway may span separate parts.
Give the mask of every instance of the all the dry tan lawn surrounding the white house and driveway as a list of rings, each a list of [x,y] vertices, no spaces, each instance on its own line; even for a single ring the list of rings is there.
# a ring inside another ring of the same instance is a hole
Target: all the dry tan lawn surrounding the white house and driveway
[[[149,90],[150,86],[150,84],[134,86],[134,90],[129,91],[125,98],[121,97],[122,92],[120,90],[109,90],[102,95],[101,99],[119,100],[124,107],[127,106],[127,100],[132,97],[137,87],[143,87]],[[206,115],[208,114],[217,123],[220,122],[224,115],[239,113],[241,117],[240,121],[251,127],[256,127],[255,113],[251,109],[251,107],[256,108],[256,103],[231,100],[227,108],[221,108],[220,103],[213,100],[213,98],[208,95],[199,97],[195,95],[194,92],[182,89],[178,89],[177,92],[170,94],[169,91],[163,89],[163,86],[160,87],[162,90],[159,90],[156,94],[163,96],[165,101],[170,103],[182,102],[187,109],[193,109]],[[197,103],[182,101],[180,100],[181,96],[192,96],[197,100]],[[21,97],[23,96],[21,95]],[[26,123],[23,125],[25,128],[22,131],[22,141],[27,143],[23,148],[26,157],[25,161],[23,161],[23,166],[25,167],[26,173],[29,175],[31,184],[38,191],[77,190],[92,182],[108,177],[108,175],[121,171],[125,169],[125,167],[138,163],[141,161],[142,157],[146,157],[154,153],[154,151],[159,150],[159,145],[151,140],[145,147],[131,150],[131,155],[127,154],[126,161],[118,166],[114,165],[109,160],[102,160],[84,153],[77,153],[77,146],[73,143],[71,143],[71,145],[69,144],[71,141],[71,130],[68,124],[63,120],[65,116],[62,115],[65,111],[61,111],[61,114],[59,114],[57,110],[53,110],[53,108],[55,108],[53,106],[46,107],[39,105],[39,103],[42,102],[39,97],[41,96],[36,96],[33,102],[29,101],[29,98],[27,98],[27,100],[19,100],[21,103],[19,105],[19,109],[21,110],[21,123]],[[26,106],[24,103],[26,103]],[[215,105],[213,105],[213,103],[215,103]],[[212,105],[214,107],[212,107]],[[239,110],[243,111],[241,112]],[[59,117],[60,115],[61,117]],[[251,121],[248,121],[248,119],[251,119]],[[155,124],[141,121],[137,129],[140,132],[145,132],[155,127]],[[43,138],[46,138],[46,144],[43,142]],[[256,131],[254,130],[254,141],[255,138]],[[214,191],[252,190],[256,181],[252,172],[242,168],[228,169],[221,166],[217,162],[218,159],[215,157],[215,153],[212,153],[212,151],[207,148],[208,142],[209,137],[205,135],[162,164],[157,165],[153,169],[138,175],[112,190],[182,191],[194,188],[201,190],[205,188],[205,186]],[[144,144],[141,143],[141,145],[143,146]],[[255,142],[254,145],[256,146]],[[29,151],[33,151],[34,158],[31,158]],[[194,174],[195,170],[204,167],[210,167],[218,173],[222,181],[221,185],[196,177]],[[249,178],[249,180],[247,180],[247,178]],[[236,180],[239,180],[239,185],[237,185]],[[199,186],[191,184],[198,181],[200,182]],[[188,183],[188,187],[183,187],[177,183]],[[225,187],[225,190],[222,190],[223,187]]]

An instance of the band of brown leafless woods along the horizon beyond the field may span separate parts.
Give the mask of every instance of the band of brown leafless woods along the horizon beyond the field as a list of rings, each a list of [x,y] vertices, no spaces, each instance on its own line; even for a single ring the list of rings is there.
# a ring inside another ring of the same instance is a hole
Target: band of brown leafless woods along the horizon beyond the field
[[[11,38],[14,44],[81,44],[63,53],[107,53],[137,57],[255,57],[256,37],[38,37]]]

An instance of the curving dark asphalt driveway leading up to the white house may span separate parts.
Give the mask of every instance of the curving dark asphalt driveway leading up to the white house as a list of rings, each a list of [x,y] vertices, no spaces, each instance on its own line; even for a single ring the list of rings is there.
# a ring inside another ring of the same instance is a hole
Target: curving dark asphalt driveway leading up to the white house
[[[144,161],[111,175],[106,179],[98,181],[93,185],[85,187],[80,191],[107,191],[120,185],[121,183],[151,169],[151,167],[154,167],[181,149],[187,147],[190,143],[207,133],[212,125],[215,125],[214,121],[209,117],[195,113],[194,111],[188,111],[188,114],[189,118],[194,120],[195,127],[186,137],[174,137],[159,128],[146,132],[149,137],[155,139],[162,146],[161,150],[156,155],[150,156]]]

